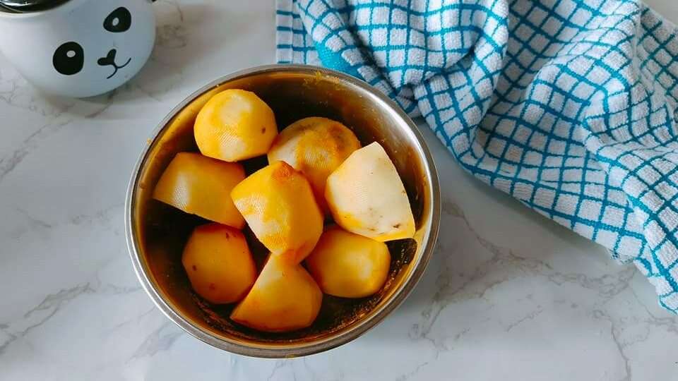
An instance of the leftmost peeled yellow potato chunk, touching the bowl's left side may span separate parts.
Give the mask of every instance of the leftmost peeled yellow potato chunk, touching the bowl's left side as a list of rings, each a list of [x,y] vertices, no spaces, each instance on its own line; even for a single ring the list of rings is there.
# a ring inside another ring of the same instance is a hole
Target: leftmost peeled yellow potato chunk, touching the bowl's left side
[[[180,152],[157,181],[153,198],[186,213],[242,229],[245,220],[230,194],[244,178],[241,164]]]

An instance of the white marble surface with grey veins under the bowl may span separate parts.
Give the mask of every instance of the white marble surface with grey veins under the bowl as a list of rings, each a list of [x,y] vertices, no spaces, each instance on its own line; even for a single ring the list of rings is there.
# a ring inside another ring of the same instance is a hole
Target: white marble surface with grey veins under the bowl
[[[673,1],[651,4],[677,20]],[[381,325],[275,361],[213,349],[169,322],[126,252],[126,183],[174,104],[273,61],[271,3],[159,1],[153,59],[97,99],[44,97],[0,57],[1,380],[678,379],[678,317],[634,267],[471,179],[428,131],[441,239]]]

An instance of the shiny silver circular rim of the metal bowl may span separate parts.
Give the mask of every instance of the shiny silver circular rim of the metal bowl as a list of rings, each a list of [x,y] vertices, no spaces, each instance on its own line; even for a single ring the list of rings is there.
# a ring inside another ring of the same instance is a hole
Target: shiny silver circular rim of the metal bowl
[[[381,306],[381,308],[376,311],[376,313],[370,313],[370,315],[368,315],[366,318],[358,320],[355,323],[355,326],[350,327],[350,329],[347,329],[344,332],[330,334],[328,335],[328,337],[314,339],[313,341],[306,341],[302,343],[289,344],[288,346],[280,346],[276,348],[263,348],[256,346],[247,346],[239,342],[228,341],[220,337],[216,337],[213,334],[210,334],[210,332],[203,330],[200,327],[196,327],[196,325],[193,325],[189,320],[186,320],[185,317],[177,313],[177,311],[174,310],[172,306],[170,306],[170,304],[165,300],[165,298],[162,297],[160,291],[157,290],[156,287],[153,285],[153,282],[150,281],[150,277],[148,275],[149,270],[147,267],[145,267],[141,260],[140,255],[141,250],[138,247],[139,246],[138,237],[137,234],[135,233],[135,230],[133,229],[132,207],[134,196],[136,195],[138,180],[141,176],[143,164],[145,164],[150,150],[155,146],[155,143],[157,143],[157,138],[160,135],[160,133],[162,133],[162,131],[165,130],[165,128],[167,128],[167,126],[169,125],[169,121],[171,121],[172,118],[174,118],[174,116],[176,116],[179,113],[179,111],[182,111],[182,109],[184,109],[187,105],[193,102],[194,99],[196,99],[197,97],[203,95],[205,92],[208,92],[214,87],[221,85],[222,83],[227,83],[232,80],[237,80],[238,78],[244,78],[247,76],[261,73],[286,72],[286,71],[308,72],[314,74],[321,73],[322,75],[328,75],[330,77],[335,77],[340,80],[345,80],[348,83],[350,83],[350,85],[360,87],[362,90],[365,90],[374,95],[375,97],[377,97],[381,102],[384,102],[386,106],[388,106],[391,109],[389,111],[396,113],[400,119],[403,119],[405,124],[409,127],[410,132],[415,137],[415,140],[417,140],[417,143],[419,143],[421,147],[421,152],[424,156],[425,170],[427,171],[427,175],[430,181],[429,192],[431,193],[431,205],[432,205],[430,217],[431,224],[429,230],[425,232],[424,238],[422,239],[422,245],[424,247],[422,248],[422,255],[420,259],[417,262],[415,262],[414,264],[415,267],[408,275],[408,278],[402,282],[403,284],[402,288],[399,291],[396,291],[396,293],[394,293],[393,296],[391,297],[391,300],[384,303],[383,306]],[[188,332],[189,334],[191,334],[191,336],[205,342],[206,344],[209,344],[210,346],[214,346],[215,348],[229,351],[231,353],[237,353],[244,356],[259,358],[294,358],[298,356],[307,356],[314,353],[328,351],[329,349],[333,349],[337,346],[346,344],[349,341],[357,339],[357,337],[361,336],[369,329],[378,325],[379,322],[383,321],[386,315],[393,312],[393,310],[398,308],[398,306],[400,306],[403,303],[403,301],[405,301],[405,298],[407,298],[410,295],[412,289],[414,289],[417,283],[420,281],[422,274],[424,274],[424,271],[427,268],[429,260],[433,255],[434,247],[439,232],[440,214],[441,214],[440,199],[441,196],[438,173],[436,171],[433,156],[429,151],[429,148],[427,146],[426,141],[424,140],[422,133],[419,131],[419,128],[414,123],[414,121],[410,119],[410,116],[408,116],[408,114],[405,114],[405,111],[403,111],[403,109],[401,109],[400,106],[396,104],[396,102],[394,102],[392,99],[384,95],[383,92],[377,90],[375,87],[369,85],[363,80],[360,80],[359,78],[355,78],[345,73],[341,73],[339,71],[334,71],[319,66],[298,65],[298,64],[275,64],[275,65],[254,66],[252,68],[246,68],[244,70],[235,71],[234,73],[223,75],[220,78],[217,78],[213,81],[210,81],[210,83],[201,86],[198,90],[191,92],[191,94],[185,97],[184,100],[182,100],[182,102],[179,102],[179,104],[177,104],[176,107],[169,111],[167,116],[165,116],[162,119],[162,121],[160,121],[160,123],[157,125],[157,127],[153,129],[150,135],[150,140],[148,140],[148,144],[144,146],[143,150],[141,151],[141,155],[139,155],[139,158],[131,174],[129,184],[127,186],[125,200],[125,215],[124,215],[125,236],[127,241],[127,250],[132,261],[134,272],[136,273],[136,277],[141,283],[141,286],[143,286],[143,289],[146,291],[146,294],[148,294],[151,300],[153,300],[155,306],[158,309],[160,309],[160,311],[165,316],[167,316],[169,320],[174,322],[174,324],[184,329],[185,332]]]

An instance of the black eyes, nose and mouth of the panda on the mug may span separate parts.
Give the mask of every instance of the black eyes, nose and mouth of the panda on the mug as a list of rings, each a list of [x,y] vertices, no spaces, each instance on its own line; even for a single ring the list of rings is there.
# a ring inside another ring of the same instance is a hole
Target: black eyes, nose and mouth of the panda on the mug
[[[109,13],[103,20],[103,30],[109,33],[124,33],[129,30],[132,24],[132,14],[130,11],[121,6]],[[113,78],[121,68],[129,65],[132,58],[122,59],[116,61],[117,49],[110,49],[106,56],[97,59],[97,64],[100,66],[111,66],[112,73],[107,76],[107,79]],[[83,70],[85,66],[85,49],[76,41],[64,42],[55,51],[52,58],[54,69],[63,75],[76,75]]]

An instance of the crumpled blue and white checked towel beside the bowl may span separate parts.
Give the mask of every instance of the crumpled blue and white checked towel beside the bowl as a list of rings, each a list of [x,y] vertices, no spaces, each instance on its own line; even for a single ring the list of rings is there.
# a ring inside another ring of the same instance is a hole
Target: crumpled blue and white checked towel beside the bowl
[[[278,61],[366,80],[678,312],[678,37],[636,0],[278,0]],[[444,169],[440,169],[444,171]]]

